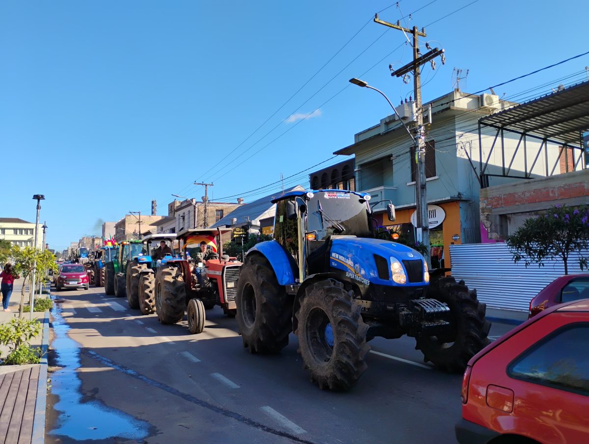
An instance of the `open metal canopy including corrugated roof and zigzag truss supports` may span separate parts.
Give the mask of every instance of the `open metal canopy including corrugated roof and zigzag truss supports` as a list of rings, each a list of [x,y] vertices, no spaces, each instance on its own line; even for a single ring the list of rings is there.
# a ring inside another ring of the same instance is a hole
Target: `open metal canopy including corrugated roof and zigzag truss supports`
[[[496,131],[491,149],[488,152],[487,160],[484,160],[482,153],[481,128],[491,127]],[[584,169],[583,162],[583,143],[582,131],[589,129],[589,81],[573,85],[568,88],[555,91],[555,93],[535,98],[526,103],[522,103],[507,110],[499,111],[490,116],[481,117],[478,121],[479,135],[479,168],[477,169],[471,162],[472,169],[477,175],[481,188],[489,186],[489,176],[512,177],[514,179],[533,179],[532,170],[537,165],[540,154],[544,152],[541,163],[542,176],[548,177],[557,172],[557,166],[564,159],[564,171],[559,173],[568,173],[578,168]],[[505,154],[504,132],[515,133],[519,135],[519,141],[511,160]],[[526,140],[541,140],[537,152],[531,153],[527,157]],[[488,170],[489,159],[495,149],[495,144],[500,140],[501,146],[501,174],[492,174]],[[522,144],[523,142],[523,144]],[[559,150],[554,165],[549,165],[548,143],[557,144]],[[514,172],[514,160],[518,155],[520,146],[523,145],[522,152],[524,156],[524,168],[519,172]],[[468,156],[468,153],[466,153]],[[540,164],[538,164],[540,165]]]

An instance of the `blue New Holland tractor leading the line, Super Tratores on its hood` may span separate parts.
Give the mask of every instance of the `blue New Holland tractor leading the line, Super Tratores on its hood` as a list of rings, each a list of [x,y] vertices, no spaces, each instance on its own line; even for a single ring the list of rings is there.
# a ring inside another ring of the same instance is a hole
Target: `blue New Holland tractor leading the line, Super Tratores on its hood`
[[[277,353],[289,334],[310,379],[348,390],[376,336],[416,339],[424,360],[463,371],[488,344],[485,304],[448,269],[428,270],[408,246],[376,238],[366,193],[295,191],[276,203],[274,240],[247,252],[237,322],[250,353]],[[393,221],[393,205],[388,205]]]

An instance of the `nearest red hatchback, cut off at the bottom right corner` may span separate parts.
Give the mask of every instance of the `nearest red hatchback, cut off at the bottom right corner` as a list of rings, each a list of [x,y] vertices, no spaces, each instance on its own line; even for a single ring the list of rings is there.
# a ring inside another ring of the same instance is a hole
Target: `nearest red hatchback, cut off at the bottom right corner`
[[[525,321],[468,362],[460,443],[589,443],[589,300]]]

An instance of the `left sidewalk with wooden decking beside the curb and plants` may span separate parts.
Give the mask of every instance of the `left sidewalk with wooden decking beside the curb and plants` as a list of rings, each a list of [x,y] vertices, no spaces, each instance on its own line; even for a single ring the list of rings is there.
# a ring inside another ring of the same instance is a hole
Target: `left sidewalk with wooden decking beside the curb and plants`
[[[9,304],[12,311],[0,311],[0,324],[18,317],[22,281],[15,282]],[[28,303],[28,294],[25,294],[25,303]],[[23,313],[25,319],[30,315]],[[49,312],[33,313],[33,317],[39,319],[42,329],[31,346],[41,347],[44,356],[40,364],[0,366],[0,442],[37,444],[45,439]],[[8,347],[0,346],[0,352],[6,357]]]

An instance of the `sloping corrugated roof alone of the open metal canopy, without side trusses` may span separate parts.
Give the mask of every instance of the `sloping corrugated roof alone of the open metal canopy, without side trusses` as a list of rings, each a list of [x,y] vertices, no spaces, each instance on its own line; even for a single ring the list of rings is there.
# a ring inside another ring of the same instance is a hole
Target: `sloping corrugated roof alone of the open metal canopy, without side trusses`
[[[482,117],[479,123],[576,145],[580,131],[589,129],[589,81]]]

